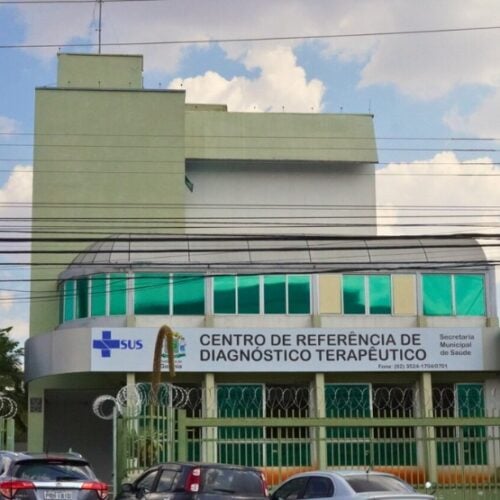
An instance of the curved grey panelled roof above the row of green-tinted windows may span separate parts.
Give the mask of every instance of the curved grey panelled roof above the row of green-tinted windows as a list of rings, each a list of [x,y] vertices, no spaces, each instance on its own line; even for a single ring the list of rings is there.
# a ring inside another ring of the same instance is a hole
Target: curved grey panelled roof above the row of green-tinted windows
[[[122,234],[91,244],[59,278],[127,271],[324,273],[487,265],[473,238]]]

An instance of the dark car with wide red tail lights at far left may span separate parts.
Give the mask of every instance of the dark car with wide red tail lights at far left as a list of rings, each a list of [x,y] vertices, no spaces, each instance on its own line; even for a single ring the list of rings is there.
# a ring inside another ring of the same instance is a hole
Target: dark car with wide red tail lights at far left
[[[78,453],[0,451],[0,500],[107,500],[99,481]]]

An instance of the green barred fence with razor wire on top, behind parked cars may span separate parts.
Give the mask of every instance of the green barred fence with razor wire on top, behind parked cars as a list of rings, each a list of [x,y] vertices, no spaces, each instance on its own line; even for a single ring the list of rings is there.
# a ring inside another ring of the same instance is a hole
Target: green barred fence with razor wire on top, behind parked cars
[[[371,384],[325,384],[321,394],[138,384],[111,399],[118,481],[160,461],[201,460],[260,467],[271,486],[304,470],[376,469],[421,490],[431,481],[438,498],[500,498],[500,415],[481,384],[436,386],[432,401],[411,386]]]

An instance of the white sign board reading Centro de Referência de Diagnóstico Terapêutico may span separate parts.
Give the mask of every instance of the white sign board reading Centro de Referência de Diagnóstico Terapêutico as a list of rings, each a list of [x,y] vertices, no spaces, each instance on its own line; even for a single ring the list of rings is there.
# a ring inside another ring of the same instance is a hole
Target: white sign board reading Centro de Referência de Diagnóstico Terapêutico
[[[151,371],[157,332],[93,328],[92,371]],[[180,372],[483,369],[479,328],[178,328],[174,351]]]

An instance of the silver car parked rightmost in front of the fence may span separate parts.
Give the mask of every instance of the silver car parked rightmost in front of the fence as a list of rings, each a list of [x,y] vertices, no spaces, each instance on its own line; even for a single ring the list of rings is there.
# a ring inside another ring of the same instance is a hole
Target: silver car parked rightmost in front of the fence
[[[311,471],[295,474],[279,485],[270,500],[435,500],[418,493],[397,476],[382,472]]]

